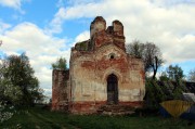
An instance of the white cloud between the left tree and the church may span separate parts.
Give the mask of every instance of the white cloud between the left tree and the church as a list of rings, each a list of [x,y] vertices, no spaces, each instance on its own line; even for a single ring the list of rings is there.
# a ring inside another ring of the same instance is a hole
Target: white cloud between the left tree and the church
[[[31,23],[21,23],[10,30],[5,30],[0,39],[3,41],[1,50],[8,55],[18,54],[18,50],[26,51],[35,75],[43,89],[51,89],[51,63],[58,56],[69,60],[69,46],[65,39],[46,35],[43,29]],[[65,51],[61,51],[64,49]]]

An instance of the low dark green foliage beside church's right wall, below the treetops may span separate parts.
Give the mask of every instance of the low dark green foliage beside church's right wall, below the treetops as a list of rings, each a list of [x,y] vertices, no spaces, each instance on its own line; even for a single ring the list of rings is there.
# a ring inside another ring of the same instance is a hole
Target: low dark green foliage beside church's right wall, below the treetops
[[[187,92],[185,82],[180,79],[177,81],[167,80],[153,80],[146,79],[145,83],[146,95],[145,102],[146,107],[155,109],[159,107],[159,103],[167,100],[179,100],[183,92]]]

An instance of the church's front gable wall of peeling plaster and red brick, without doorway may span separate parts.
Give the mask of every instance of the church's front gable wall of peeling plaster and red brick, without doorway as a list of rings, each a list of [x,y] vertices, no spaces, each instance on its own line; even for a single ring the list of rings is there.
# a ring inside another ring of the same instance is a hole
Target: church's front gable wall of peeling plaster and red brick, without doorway
[[[78,51],[77,51],[78,52]],[[107,77],[115,74],[118,78],[119,103],[139,102],[144,96],[144,69],[139,59],[128,56],[115,44],[100,48],[93,53],[72,56],[72,102],[107,102]],[[110,54],[115,57],[110,60]],[[93,109],[93,108],[92,108]]]

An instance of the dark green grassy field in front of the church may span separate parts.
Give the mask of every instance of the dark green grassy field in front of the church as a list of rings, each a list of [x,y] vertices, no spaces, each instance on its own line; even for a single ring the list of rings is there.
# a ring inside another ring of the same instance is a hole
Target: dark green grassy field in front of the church
[[[40,107],[17,111],[0,129],[195,129],[195,122],[160,116],[68,115]]]

